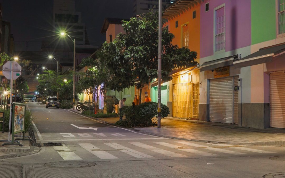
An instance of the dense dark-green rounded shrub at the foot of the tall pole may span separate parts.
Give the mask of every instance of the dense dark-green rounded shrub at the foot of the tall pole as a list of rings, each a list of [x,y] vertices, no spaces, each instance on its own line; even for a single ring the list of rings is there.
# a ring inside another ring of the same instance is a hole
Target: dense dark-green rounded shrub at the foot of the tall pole
[[[125,106],[122,113],[124,122],[117,122],[120,126],[152,126],[157,122],[157,103],[142,103],[138,106]],[[161,118],[169,114],[169,108],[161,104]]]

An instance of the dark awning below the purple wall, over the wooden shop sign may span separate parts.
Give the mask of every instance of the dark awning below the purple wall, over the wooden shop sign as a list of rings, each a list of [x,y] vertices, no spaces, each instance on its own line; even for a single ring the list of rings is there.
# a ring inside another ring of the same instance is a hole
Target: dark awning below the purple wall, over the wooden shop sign
[[[211,69],[215,69],[218,67],[230,66],[230,65],[233,65],[234,60],[237,60],[240,58],[241,58],[241,54],[236,54],[233,56],[228,56],[226,58],[204,62],[200,67],[200,71],[211,70]]]

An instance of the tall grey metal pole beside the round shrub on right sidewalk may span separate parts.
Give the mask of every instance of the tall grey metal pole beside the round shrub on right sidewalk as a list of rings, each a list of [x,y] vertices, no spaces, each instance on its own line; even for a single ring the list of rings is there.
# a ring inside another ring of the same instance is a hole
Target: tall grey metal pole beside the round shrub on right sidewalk
[[[161,34],[162,34],[162,2],[158,0],[158,107],[157,107],[157,128],[160,128],[161,120]]]

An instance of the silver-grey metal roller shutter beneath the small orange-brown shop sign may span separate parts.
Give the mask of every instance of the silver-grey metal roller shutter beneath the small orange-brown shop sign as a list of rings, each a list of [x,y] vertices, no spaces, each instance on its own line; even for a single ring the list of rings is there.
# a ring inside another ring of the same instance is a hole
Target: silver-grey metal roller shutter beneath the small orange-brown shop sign
[[[233,123],[233,77],[210,80],[209,116],[211,122]]]

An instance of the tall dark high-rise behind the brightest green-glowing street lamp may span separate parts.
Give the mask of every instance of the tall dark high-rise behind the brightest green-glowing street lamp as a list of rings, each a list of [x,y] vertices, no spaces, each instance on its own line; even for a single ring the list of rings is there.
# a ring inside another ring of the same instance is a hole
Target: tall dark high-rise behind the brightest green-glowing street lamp
[[[75,11],[74,0],[54,0],[53,26],[56,32],[66,32],[76,44],[89,44],[81,12]]]

